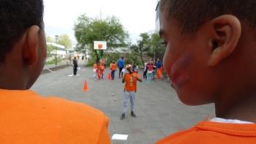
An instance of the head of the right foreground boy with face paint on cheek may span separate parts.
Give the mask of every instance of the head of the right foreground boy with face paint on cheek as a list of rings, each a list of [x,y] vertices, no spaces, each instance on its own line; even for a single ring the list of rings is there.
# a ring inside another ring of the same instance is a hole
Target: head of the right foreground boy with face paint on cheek
[[[187,105],[255,94],[256,1],[162,0],[164,67]]]

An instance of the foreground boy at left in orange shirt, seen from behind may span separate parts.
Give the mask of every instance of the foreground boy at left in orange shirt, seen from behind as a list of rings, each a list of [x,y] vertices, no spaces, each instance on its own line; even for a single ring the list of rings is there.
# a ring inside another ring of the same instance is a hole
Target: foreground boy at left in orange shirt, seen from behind
[[[110,143],[99,110],[29,90],[46,60],[43,1],[0,1],[0,10],[0,143]]]

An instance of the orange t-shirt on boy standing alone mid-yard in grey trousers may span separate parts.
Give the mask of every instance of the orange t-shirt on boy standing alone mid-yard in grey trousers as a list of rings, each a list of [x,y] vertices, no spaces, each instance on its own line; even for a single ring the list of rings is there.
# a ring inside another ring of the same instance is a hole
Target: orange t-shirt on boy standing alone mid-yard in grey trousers
[[[132,75],[135,75],[137,77],[140,77],[137,73],[133,72],[132,74],[127,73],[124,75],[125,85],[124,89],[126,91],[137,91],[137,78],[132,77]]]

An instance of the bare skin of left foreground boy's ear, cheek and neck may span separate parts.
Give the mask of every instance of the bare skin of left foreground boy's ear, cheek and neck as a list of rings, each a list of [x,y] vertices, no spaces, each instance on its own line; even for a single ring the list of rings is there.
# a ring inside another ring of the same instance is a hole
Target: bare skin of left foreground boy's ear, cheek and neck
[[[46,60],[45,31],[31,26],[0,64],[0,88],[26,90],[39,77]]]

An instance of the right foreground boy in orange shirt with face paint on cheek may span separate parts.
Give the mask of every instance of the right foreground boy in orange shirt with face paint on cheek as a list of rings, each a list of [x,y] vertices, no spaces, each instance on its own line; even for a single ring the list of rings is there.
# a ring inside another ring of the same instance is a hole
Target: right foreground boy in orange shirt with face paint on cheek
[[[216,118],[158,144],[256,143],[255,7],[249,0],[161,1],[172,86],[186,105],[214,103]]]

